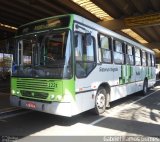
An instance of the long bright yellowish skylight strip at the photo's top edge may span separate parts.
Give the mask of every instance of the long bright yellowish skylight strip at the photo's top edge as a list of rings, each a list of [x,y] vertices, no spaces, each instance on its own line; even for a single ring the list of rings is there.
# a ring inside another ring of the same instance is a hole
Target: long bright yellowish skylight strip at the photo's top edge
[[[105,11],[103,11],[100,7],[95,5],[92,1],[90,0],[72,0],[74,3],[77,5],[81,6],[85,10],[89,11],[96,17],[98,17],[101,20],[113,20],[111,16],[109,16]]]

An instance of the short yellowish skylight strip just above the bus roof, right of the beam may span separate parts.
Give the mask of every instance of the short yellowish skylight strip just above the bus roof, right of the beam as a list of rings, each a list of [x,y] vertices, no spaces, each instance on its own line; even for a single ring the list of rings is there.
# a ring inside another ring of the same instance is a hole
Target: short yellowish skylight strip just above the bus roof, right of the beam
[[[134,38],[135,40],[139,41],[140,43],[148,43],[144,38],[142,38],[140,35],[132,31],[131,29],[123,29],[121,31]]]

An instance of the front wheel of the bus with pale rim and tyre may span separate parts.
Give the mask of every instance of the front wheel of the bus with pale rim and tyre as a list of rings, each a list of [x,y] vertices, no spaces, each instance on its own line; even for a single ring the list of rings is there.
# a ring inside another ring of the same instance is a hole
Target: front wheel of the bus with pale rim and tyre
[[[95,113],[96,114],[102,114],[106,110],[106,103],[107,103],[107,92],[106,89],[103,87],[100,87],[97,91],[96,97],[95,97]]]

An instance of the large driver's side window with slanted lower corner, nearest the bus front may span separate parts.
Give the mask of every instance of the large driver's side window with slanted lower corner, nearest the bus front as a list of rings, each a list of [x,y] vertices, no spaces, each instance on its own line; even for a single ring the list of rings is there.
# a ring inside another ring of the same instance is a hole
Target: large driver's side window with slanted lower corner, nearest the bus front
[[[79,78],[86,77],[95,67],[94,38],[91,37],[90,45],[84,38],[83,33],[75,33],[76,75]]]

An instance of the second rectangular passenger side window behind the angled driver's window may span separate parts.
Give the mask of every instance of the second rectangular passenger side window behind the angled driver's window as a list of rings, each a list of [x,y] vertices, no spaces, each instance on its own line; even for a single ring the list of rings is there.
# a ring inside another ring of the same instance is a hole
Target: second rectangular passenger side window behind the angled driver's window
[[[122,42],[114,40],[114,62],[124,64],[124,49]]]

